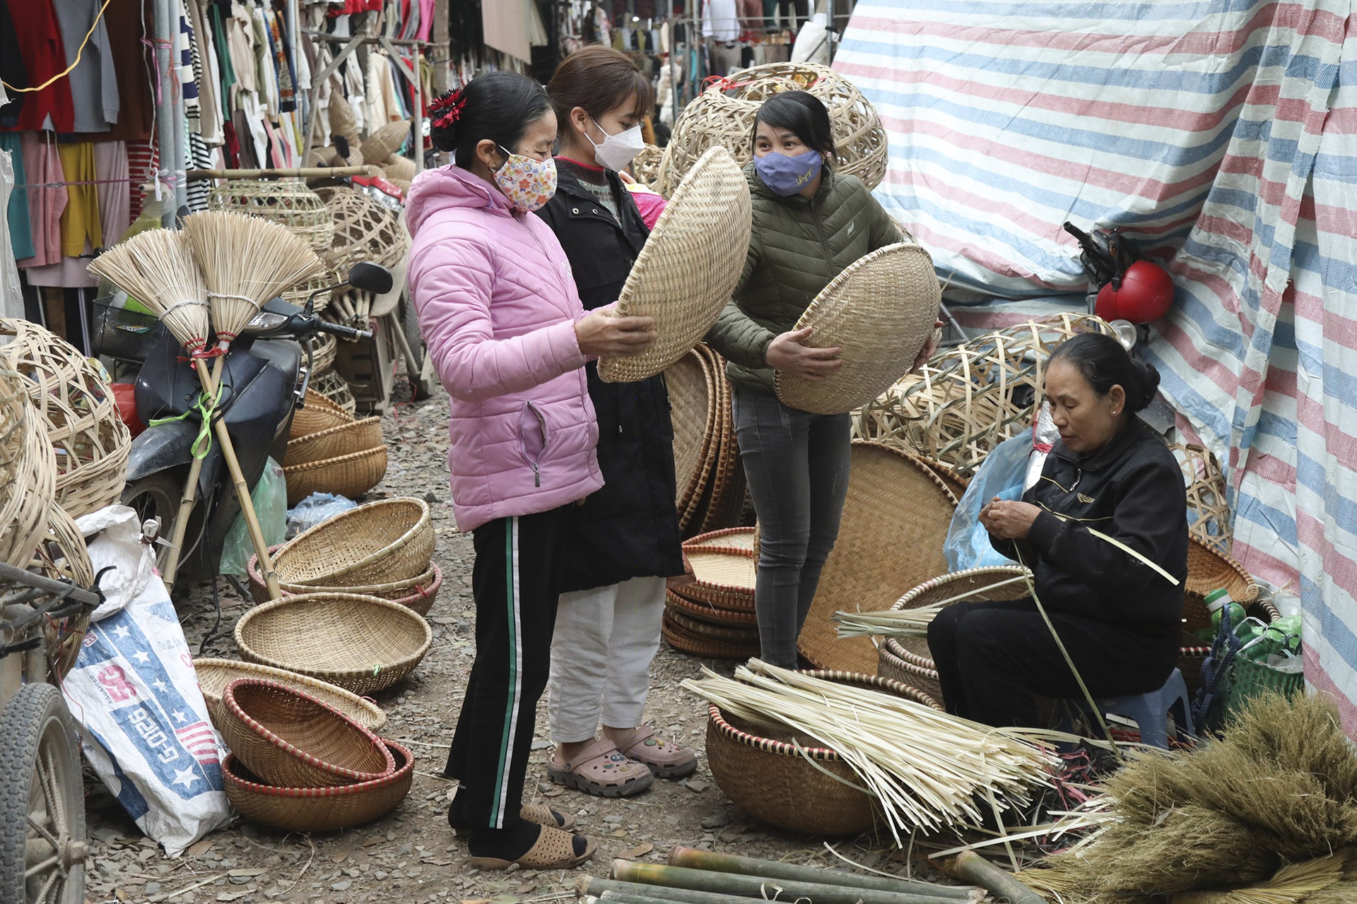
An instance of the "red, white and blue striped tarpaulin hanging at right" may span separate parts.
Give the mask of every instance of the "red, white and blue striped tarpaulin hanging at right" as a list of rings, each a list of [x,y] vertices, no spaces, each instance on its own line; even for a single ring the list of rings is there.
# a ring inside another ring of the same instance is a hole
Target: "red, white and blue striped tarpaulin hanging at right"
[[[889,133],[882,203],[996,300],[970,323],[1082,308],[1065,220],[1166,262],[1145,355],[1228,462],[1234,554],[1299,599],[1305,678],[1357,737],[1352,0],[859,0],[835,69]]]

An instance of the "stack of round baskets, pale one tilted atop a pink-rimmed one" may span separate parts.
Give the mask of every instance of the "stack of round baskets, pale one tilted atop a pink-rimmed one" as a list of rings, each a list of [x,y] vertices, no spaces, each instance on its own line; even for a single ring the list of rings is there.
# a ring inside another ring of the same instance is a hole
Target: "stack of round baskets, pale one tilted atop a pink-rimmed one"
[[[335,515],[270,554],[284,596],[322,591],[376,596],[426,615],[442,587],[433,546],[427,503],[388,499]],[[269,602],[252,556],[247,572],[255,600]]]

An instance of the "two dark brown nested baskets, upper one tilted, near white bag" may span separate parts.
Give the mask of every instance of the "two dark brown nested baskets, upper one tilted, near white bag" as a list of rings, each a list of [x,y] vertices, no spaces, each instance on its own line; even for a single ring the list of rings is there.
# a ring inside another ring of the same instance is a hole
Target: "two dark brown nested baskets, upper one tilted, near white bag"
[[[408,749],[282,682],[232,680],[216,721],[231,748],[227,798],[265,825],[316,832],[368,823],[395,809],[414,779]]]

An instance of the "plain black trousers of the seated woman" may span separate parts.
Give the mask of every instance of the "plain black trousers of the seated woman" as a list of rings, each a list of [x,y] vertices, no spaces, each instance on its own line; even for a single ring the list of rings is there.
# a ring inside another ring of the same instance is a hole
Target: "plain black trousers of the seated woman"
[[[1068,613],[1050,613],[1050,621],[1095,698],[1158,690],[1178,660],[1177,626],[1128,626]],[[1035,695],[1083,699],[1030,598],[947,606],[928,626],[928,648],[954,716],[1045,728]]]

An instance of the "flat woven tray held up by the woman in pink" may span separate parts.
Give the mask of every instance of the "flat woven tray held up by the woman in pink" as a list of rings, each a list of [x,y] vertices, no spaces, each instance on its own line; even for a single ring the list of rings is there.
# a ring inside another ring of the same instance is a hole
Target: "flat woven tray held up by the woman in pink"
[[[604,382],[658,374],[706,335],[740,279],[749,251],[749,183],[722,148],[693,165],[660,214],[617,297],[619,316],[655,319],[655,342],[624,358],[600,358]]]

